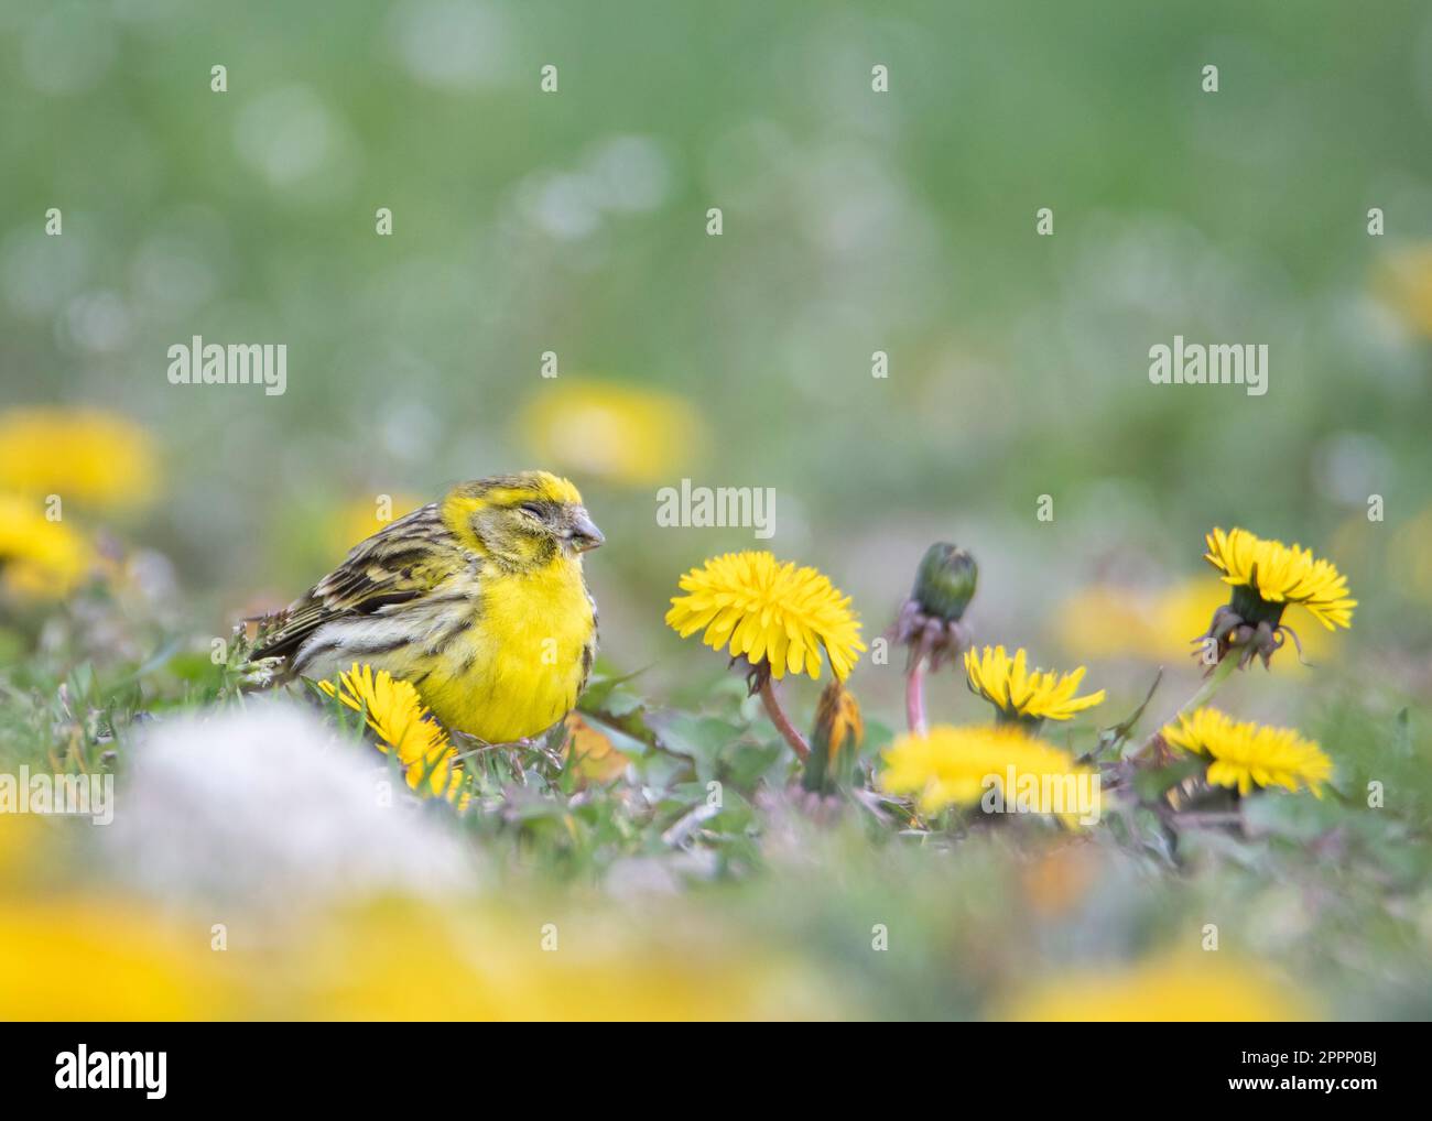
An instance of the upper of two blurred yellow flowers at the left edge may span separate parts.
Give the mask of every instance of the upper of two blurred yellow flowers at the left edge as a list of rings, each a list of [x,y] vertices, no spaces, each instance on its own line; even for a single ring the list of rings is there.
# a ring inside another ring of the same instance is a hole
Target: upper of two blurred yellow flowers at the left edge
[[[97,510],[142,505],[158,484],[149,434],[99,409],[23,408],[0,414],[0,491],[57,494]]]

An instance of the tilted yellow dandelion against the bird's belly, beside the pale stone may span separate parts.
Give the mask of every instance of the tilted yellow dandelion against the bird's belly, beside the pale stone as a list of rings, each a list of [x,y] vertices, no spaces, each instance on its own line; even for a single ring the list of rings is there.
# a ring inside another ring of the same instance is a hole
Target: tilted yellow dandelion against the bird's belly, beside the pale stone
[[[425,795],[458,800],[460,807],[467,805],[467,795],[458,797],[463,773],[457,752],[447,732],[422,707],[411,681],[358,664],[339,673],[338,681],[337,686],[319,681],[318,687],[354,712],[365,713],[368,727],[378,733],[378,749],[397,756],[410,787],[420,790],[425,779]]]

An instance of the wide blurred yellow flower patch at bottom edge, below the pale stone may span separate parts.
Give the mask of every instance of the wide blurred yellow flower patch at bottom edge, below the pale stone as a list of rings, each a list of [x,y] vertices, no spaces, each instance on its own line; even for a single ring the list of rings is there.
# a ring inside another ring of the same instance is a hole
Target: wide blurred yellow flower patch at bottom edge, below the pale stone
[[[677,926],[683,923],[676,922]],[[647,933],[630,912],[567,922],[377,905],[295,962],[301,1015],[334,1019],[812,1019],[836,1014],[775,951],[696,923]]]

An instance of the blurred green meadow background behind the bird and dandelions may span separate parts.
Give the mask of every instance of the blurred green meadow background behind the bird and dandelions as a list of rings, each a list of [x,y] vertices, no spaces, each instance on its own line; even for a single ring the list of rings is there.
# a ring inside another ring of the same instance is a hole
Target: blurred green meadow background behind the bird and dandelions
[[[0,59],[3,402],[149,430],[119,530],[199,630],[326,571],[334,511],[544,465],[629,669],[719,671],[660,623],[707,555],[816,564],[869,637],[935,538],[979,639],[1087,660],[1068,596],[1242,524],[1349,574],[1345,657],[1432,676],[1423,4],[6,0]],[[1176,334],[1266,342],[1269,394],[1150,385]],[[192,335],[288,344],[286,394],[170,385]],[[659,530],[683,477],[773,487],[775,538]]]

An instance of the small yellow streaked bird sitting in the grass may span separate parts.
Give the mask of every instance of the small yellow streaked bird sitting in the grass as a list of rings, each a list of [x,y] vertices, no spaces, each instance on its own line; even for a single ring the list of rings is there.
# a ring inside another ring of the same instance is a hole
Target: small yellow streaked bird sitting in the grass
[[[463,482],[263,618],[252,657],[312,679],[367,663],[411,681],[450,729],[526,739],[571,712],[591,673],[581,554],[604,540],[564,478]]]

